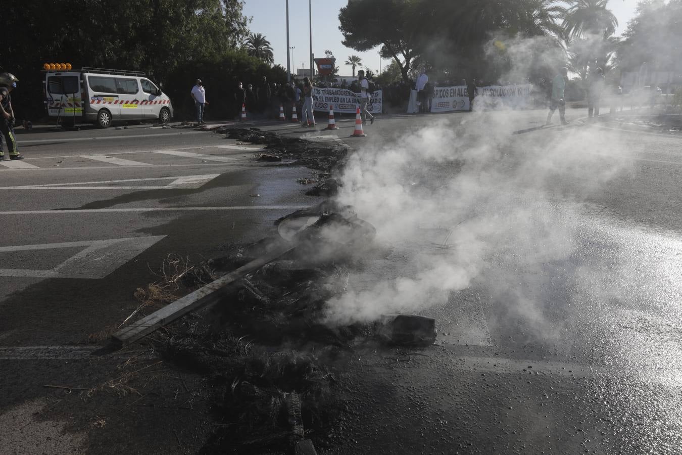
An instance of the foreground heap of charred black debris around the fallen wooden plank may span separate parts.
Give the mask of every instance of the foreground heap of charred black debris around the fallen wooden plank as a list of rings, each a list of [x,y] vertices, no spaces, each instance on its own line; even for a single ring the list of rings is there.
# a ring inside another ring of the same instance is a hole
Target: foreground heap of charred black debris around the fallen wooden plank
[[[306,223],[296,227],[300,219]],[[324,323],[326,302],[346,292],[352,252],[363,250],[353,246],[371,241],[374,228],[330,201],[278,220],[278,228],[287,224],[297,248],[234,282],[213,307],[149,338],[164,359],[210,385],[215,426],[201,453],[315,454],[313,441],[328,445],[345,409],[347,385],[334,365],[375,338],[371,324]],[[169,259],[173,267],[164,262],[163,276],[172,285],[138,290],[140,313],[271,254],[281,242],[230,244],[221,248],[225,256],[199,265]]]

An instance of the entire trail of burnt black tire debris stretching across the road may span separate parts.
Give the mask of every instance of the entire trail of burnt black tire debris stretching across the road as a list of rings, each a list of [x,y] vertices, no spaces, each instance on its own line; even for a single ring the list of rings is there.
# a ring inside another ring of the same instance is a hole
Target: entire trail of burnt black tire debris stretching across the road
[[[321,171],[316,194],[336,194],[331,176],[343,165],[344,147],[255,128],[227,130],[226,136],[266,145],[269,156]],[[349,274],[376,235],[353,207],[327,199],[280,218],[276,228],[278,237],[228,244],[221,257],[174,270],[180,296],[257,265],[233,276],[209,304],[162,321],[162,330],[143,339],[169,364],[203,376],[213,429],[200,453],[315,454],[315,446],[342,444],[338,423],[348,411],[343,397],[353,388],[343,366],[353,349],[375,343],[421,349],[434,340],[428,318],[326,322],[327,302],[346,292]]]

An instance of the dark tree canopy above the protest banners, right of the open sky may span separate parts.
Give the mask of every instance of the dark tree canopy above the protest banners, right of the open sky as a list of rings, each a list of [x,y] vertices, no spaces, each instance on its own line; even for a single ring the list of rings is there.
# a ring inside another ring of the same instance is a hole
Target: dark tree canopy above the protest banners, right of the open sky
[[[486,61],[492,36],[552,35],[559,46],[561,14],[556,0],[353,0],[339,28],[355,50],[381,46],[405,81],[415,57],[444,74],[496,77],[504,68]]]

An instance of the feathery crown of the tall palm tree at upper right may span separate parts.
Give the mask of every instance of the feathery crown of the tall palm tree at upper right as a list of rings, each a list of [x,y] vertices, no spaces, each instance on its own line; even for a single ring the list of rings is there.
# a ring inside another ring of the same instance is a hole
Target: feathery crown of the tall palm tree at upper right
[[[602,35],[608,38],[618,27],[618,19],[606,8],[608,0],[570,0],[563,28],[570,38],[584,35]]]

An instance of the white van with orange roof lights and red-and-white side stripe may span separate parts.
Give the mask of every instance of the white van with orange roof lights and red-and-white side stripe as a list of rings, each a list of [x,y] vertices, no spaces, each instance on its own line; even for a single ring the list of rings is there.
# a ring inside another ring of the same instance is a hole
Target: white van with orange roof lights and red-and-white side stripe
[[[85,67],[45,73],[47,112],[60,123],[108,128],[115,121],[173,119],[170,98],[143,72]]]

